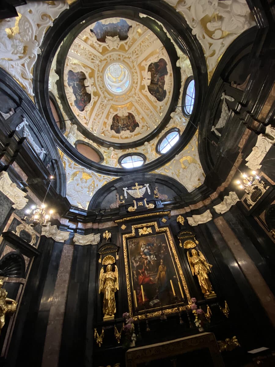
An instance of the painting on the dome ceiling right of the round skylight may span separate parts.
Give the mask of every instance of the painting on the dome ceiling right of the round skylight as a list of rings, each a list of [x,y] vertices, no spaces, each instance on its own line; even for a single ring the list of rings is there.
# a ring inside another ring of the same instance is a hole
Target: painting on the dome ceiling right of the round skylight
[[[150,63],[148,72],[151,73],[151,83],[148,85],[148,91],[161,102],[166,97],[164,86],[165,75],[168,74],[167,62],[161,58],[157,62]]]

